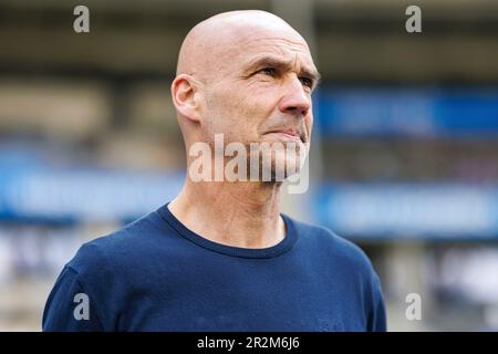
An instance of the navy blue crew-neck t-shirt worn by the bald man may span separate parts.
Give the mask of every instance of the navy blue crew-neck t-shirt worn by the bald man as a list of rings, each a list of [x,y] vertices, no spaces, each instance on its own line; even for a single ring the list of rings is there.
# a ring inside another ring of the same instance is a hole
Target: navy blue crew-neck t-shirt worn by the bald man
[[[167,205],[83,244],[43,313],[44,331],[385,331],[381,284],[356,246],[282,215],[286,238],[229,247]]]

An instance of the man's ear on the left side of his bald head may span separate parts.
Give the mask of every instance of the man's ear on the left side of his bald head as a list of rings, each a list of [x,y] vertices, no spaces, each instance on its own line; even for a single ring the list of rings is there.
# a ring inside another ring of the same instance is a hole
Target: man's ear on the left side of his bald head
[[[199,83],[190,75],[179,74],[172,83],[172,98],[176,111],[188,119],[199,122]]]

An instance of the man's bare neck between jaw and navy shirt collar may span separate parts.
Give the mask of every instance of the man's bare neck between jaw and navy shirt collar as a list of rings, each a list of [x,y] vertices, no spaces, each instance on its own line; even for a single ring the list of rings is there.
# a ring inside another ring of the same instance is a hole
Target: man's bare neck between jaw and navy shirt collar
[[[193,183],[168,205],[191,231],[231,247],[268,248],[286,237],[280,216],[281,185],[274,183]]]

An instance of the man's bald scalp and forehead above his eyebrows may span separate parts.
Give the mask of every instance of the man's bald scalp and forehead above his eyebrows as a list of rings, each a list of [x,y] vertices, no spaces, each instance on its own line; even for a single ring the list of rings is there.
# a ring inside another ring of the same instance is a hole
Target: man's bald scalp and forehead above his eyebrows
[[[314,69],[308,43],[281,18],[259,10],[214,15],[194,27],[178,55],[177,73],[200,73],[240,65],[264,52],[298,58]]]

